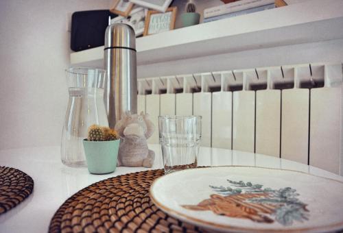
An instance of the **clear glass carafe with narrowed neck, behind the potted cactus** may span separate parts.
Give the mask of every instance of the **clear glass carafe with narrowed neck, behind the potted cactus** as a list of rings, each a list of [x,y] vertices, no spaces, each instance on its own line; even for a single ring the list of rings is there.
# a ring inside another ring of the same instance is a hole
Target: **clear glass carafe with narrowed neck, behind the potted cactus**
[[[93,124],[108,126],[104,103],[106,72],[102,69],[66,70],[69,102],[61,142],[62,163],[70,167],[86,166],[82,140]]]

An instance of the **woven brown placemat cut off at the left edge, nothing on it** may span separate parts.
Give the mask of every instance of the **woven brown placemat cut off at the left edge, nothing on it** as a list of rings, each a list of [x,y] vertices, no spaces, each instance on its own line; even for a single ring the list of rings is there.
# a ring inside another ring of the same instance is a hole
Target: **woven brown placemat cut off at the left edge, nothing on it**
[[[23,171],[0,166],[0,214],[21,203],[34,189],[34,180]]]

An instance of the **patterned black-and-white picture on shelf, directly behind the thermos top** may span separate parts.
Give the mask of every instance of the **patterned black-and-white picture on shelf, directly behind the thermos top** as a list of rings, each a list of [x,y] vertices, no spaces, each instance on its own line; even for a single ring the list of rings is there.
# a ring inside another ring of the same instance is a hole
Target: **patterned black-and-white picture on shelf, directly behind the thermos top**
[[[127,17],[115,17],[115,19],[111,19],[110,23],[126,23],[134,29],[136,36],[141,36],[144,32],[146,16],[147,9],[134,8]]]

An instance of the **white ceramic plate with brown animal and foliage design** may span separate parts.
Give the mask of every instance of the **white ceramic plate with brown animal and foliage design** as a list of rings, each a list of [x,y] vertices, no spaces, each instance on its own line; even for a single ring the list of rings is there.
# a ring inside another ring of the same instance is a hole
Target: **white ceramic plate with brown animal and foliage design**
[[[154,204],[203,228],[235,232],[343,229],[343,183],[259,167],[209,167],[159,177]]]

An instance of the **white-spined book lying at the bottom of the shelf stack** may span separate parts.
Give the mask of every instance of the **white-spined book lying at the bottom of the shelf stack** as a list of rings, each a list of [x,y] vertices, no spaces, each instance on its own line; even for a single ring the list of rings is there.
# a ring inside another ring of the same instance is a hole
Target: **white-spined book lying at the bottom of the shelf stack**
[[[213,8],[207,8],[204,10],[204,19],[214,16],[220,16],[222,14],[230,14],[233,12],[241,12],[242,10],[248,10],[251,8],[257,8],[262,5],[269,5],[274,3],[274,0],[241,0],[234,1],[233,3],[227,3],[224,5],[218,5]]]

